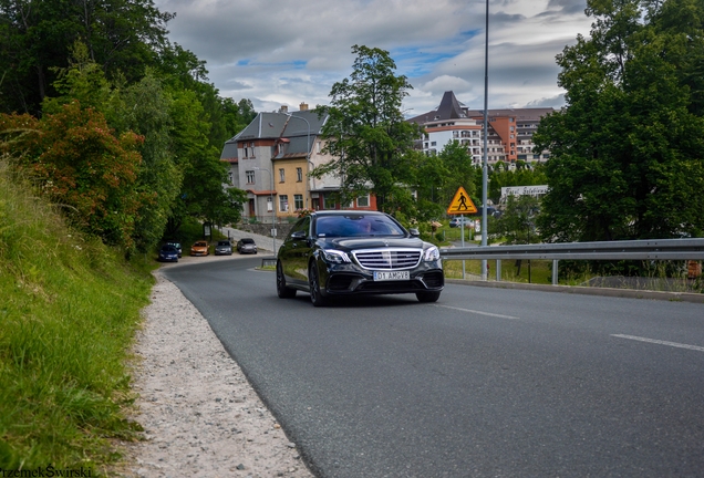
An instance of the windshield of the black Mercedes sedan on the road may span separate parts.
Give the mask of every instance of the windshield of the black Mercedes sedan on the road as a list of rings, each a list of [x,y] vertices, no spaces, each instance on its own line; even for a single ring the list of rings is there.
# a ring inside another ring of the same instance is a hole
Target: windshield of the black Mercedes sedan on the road
[[[405,230],[387,216],[322,216],[315,221],[318,237],[405,236]]]

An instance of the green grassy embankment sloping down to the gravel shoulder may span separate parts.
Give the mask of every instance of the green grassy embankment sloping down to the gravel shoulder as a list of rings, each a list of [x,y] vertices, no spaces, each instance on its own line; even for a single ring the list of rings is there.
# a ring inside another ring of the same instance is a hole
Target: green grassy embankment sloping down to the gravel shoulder
[[[0,468],[116,458],[134,398],[126,366],[154,258],[126,263],[72,231],[0,164]]]

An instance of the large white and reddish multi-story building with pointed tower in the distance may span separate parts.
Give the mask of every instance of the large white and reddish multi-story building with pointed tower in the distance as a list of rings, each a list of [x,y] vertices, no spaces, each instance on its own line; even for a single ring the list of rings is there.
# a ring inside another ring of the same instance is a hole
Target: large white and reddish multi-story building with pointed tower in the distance
[[[553,108],[509,108],[488,111],[487,162],[515,164],[518,160],[541,163],[550,157],[547,150],[534,150],[532,134],[540,118]],[[445,92],[436,110],[410,118],[422,125],[425,136],[417,147],[425,154],[437,154],[445,145],[458,141],[467,147],[473,164],[484,159],[484,111],[470,110]]]

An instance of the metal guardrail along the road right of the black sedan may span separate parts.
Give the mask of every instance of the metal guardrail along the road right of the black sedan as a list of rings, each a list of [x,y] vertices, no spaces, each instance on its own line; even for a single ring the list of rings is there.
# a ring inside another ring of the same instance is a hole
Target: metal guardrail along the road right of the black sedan
[[[604,242],[560,242],[524,246],[491,246],[474,248],[442,248],[445,260],[497,260],[496,274],[500,279],[500,260],[552,260],[552,284],[558,283],[558,261],[565,260],[702,260],[704,238],[645,239]]]

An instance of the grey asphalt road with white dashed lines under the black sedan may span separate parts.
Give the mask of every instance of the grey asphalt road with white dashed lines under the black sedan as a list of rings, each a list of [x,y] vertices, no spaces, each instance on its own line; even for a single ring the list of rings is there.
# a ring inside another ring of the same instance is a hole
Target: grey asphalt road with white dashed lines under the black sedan
[[[165,274],[321,477],[704,476],[702,304],[449,284],[315,309],[260,261]]]

